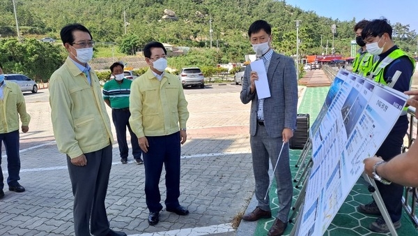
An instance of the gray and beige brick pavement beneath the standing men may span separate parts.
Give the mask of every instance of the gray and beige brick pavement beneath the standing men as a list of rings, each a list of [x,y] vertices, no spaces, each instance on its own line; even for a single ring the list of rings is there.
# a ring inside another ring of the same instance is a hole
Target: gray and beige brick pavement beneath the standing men
[[[189,137],[182,147],[180,202],[190,214],[177,216],[163,210],[160,223],[148,226],[144,166],[134,164],[132,156],[129,163],[119,163],[114,145],[106,200],[111,228],[128,235],[235,235],[231,221],[245,211],[253,195],[254,177],[249,154],[249,105],[239,100],[240,86],[226,86],[233,91],[185,91],[190,118]],[[32,116],[30,132],[21,135],[20,183],[26,192],[3,189],[6,196],[0,200],[0,235],[72,235],[70,180],[65,156],[54,144],[45,96],[47,90],[25,96]],[[3,173],[7,177],[4,168]],[[164,181],[163,173],[163,200]]]

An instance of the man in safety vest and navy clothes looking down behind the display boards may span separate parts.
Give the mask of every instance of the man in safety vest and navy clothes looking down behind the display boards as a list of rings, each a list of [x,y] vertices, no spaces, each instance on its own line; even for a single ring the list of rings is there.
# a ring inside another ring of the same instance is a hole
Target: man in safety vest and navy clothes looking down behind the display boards
[[[371,68],[369,78],[401,92],[410,90],[411,77],[415,70],[415,60],[394,45],[392,41],[392,27],[387,20],[371,21],[364,27],[362,38],[366,43],[367,52],[379,56],[379,60]],[[401,72],[397,80],[396,71]],[[401,154],[403,137],[407,130],[408,117],[404,109],[392,131],[390,131],[382,146],[376,152],[376,156],[380,156],[383,161],[389,161],[394,156]],[[376,179],[382,180],[381,177]],[[380,196],[382,196],[387,212],[394,223],[394,228],[400,228],[403,186],[394,183],[384,184],[384,181],[380,182],[380,180],[376,181]],[[370,230],[377,233],[389,232],[387,223],[381,216],[375,201],[366,205],[359,205],[358,210],[365,214],[379,215],[378,219],[369,226]]]

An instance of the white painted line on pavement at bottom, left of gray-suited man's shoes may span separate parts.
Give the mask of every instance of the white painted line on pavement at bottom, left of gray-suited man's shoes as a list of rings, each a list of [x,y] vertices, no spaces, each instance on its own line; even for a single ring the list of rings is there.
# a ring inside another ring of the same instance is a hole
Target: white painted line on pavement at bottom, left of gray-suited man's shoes
[[[127,235],[127,236],[200,236],[200,235],[212,235],[215,233],[228,233],[235,231],[232,228],[231,223],[223,223],[217,226],[204,226],[196,228],[182,228],[180,230],[169,230],[156,233],[143,233],[139,235]]]

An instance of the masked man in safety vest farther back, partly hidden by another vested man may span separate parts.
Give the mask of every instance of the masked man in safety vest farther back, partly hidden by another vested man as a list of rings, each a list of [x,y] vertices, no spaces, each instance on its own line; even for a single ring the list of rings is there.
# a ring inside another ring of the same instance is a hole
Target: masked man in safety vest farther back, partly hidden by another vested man
[[[366,43],[362,38],[362,31],[369,20],[361,20],[354,27],[355,42],[360,46],[355,59],[353,61],[353,73],[366,77],[373,66],[373,63],[378,61],[378,56],[373,56],[366,50]]]

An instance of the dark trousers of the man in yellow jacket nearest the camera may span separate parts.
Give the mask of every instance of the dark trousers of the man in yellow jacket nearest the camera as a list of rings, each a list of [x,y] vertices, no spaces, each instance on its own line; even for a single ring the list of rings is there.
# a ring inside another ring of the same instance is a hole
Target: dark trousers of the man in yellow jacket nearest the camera
[[[111,169],[111,145],[96,152],[84,154],[87,165],[72,165],[67,156],[68,172],[74,195],[74,230],[76,236],[107,235],[109,221],[107,220],[104,198]],[[88,221],[91,230],[88,230]]]

